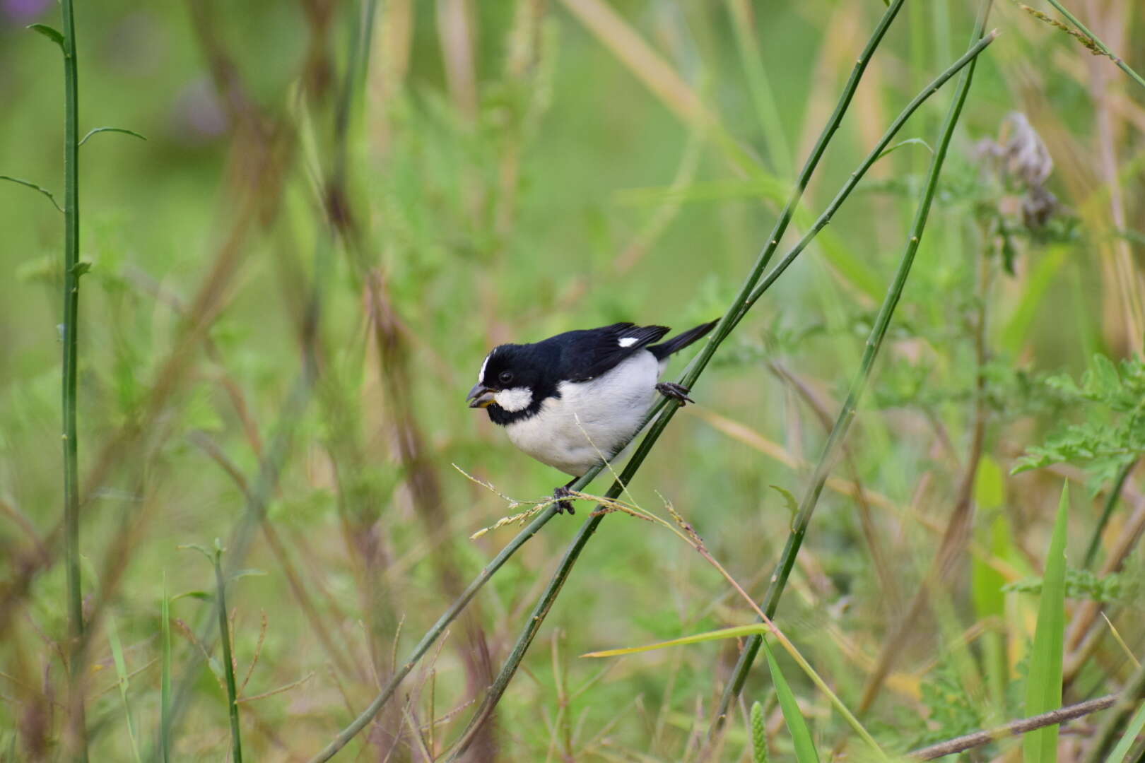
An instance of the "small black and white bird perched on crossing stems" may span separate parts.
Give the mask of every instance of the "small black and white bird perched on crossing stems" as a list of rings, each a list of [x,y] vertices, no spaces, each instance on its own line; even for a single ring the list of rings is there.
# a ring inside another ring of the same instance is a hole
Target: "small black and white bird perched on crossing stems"
[[[660,375],[668,358],[710,332],[696,326],[666,342],[666,326],[613,324],[534,344],[502,344],[485,356],[467,398],[510,440],[542,463],[572,475],[556,498],[593,467],[611,461],[640,429],[655,395],[690,403],[688,390]],[[562,501],[559,509],[572,507]]]

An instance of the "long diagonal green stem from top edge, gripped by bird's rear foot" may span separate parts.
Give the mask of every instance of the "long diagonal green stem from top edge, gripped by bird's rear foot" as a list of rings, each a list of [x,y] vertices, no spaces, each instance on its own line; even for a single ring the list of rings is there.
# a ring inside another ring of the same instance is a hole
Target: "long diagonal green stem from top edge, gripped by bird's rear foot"
[[[695,360],[685,371],[681,379],[681,384],[684,387],[690,388],[695,384],[700,374],[703,373],[708,363],[711,360],[712,355],[719,348],[720,343],[727,337],[735,325],[739,323],[744,304],[751,295],[752,289],[759,281],[775,254],[775,249],[779,247],[780,239],[783,238],[783,233],[787,231],[788,224],[791,222],[791,216],[795,214],[795,209],[799,204],[799,199],[803,198],[803,192],[811,182],[811,177],[819,166],[820,159],[822,159],[823,153],[827,151],[828,144],[830,144],[831,138],[838,130],[839,125],[843,121],[843,116],[846,113],[847,106],[851,105],[851,100],[854,96],[855,89],[859,87],[859,81],[862,79],[862,74],[867,69],[868,63],[870,63],[871,56],[878,48],[879,43],[883,41],[883,37],[886,34],[887,29],[891,26],[891,22],[898,15],[902,7],[902,0],[897,0],[887,7],[883,17],[879,19],[878,25],[871,33],[870,39],[867,41],[867,46],[863,48],[862,54],[855,62],[854,67],[851,71],[851,77],[847,79],[847,84],[843,88],[843,94],[839,96],[839,101],[835,106],[835,111],[831,113],[830,119],[828,119],[827,125],[823,127],[822,133],[820,133],[819,138],[815,142],[814,148],[811,151],[811,156],[807,157],[806,162],[804,162],[803,169],[796,181],[796,186],[791,191],[791,197],[788,199],[787,205],[784,205],[783,210],[780,213],[779,218],[775,221],[775,225],[772,229],[772,233],[767,237],[767,243],[764,245],[763,251],[756,260],[756,264],[752,268],[750,275],[741,286],[739,294],[736,294],[735,300],[733,300],[732,305],[728,308],[727,312],[720,318],[719,324],[712,331],[711,339],[704,344],[700,355],[696,356]],[[629,460],[624,472],[621,478],[613,484],[606,494],[608,498],[616,498],[624,490],[624,485],[629,483],[631,477],[639,469],[640,464],[643,462],[645,456],[652,448],[652,445],[660,437],[660,434],[671,421],[672,416],[676,414],[679,405],[669,405],[664,411],[663,415],[656,419],[648,435],[641,440],[639,448]],[[577,558],[581,556],[581,551],[587,545],[589,539],[592,538],[597,527],[600,525],[601,519],[603,519],[603,514],[598,514],[590,517],[584,525],[582,525],[581,531],[572,539],[568,549],[564,551],[564,556],[561,558],[556,571],[553,573],[552,580],[548,582],[548,587],[542,594],[540,599],[535,605],[528,621],[526,622],[524,629],[518,636],[516,643],[513,645],[513,651],[510,653],[508,659],[505,661],[502,671],[497,675],[497,679],[493,685],[489,689],[485,694],[481,707],[474,714],[469,724],[466,726],[461,734],[461,739],[458,741],[453,749],[450,761],[456,761],[466,750],[469,744],[475,738],[480,726],[484,723],[485,718],[496,707],[497,702],[500,700],[502,694],[504,694],[505,689],[508,686],[510,681],[512,681],[513,675],[516,673],[521,660],[524,658],[526,651],[529,649],[529,644],[532,643],[534,637],[536,637],[537,631],[540,629],[545,617],[552,609],[553,602],[556,599],[556,595],[560,594],[561,588],[564,586],[564,581],[568,579],[569,573],[572,571],[572,566],[576,564]]]

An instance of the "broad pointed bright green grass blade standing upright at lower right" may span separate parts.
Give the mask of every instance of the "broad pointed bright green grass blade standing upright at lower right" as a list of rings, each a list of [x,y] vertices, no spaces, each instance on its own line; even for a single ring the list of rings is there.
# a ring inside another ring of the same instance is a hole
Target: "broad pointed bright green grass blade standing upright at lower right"
[[[1039,715],[1061,706],[1061,659],[1066,629],[1066,534],[1069,519],[1069,485],[1061,488],[1058,518],[1053,523],[1045,577],[1037,609],[1037,629],[1026,678],[1026,715]],[[1026,763],[1056,763],[1058,726],[1032,731],[1022,739]]]

